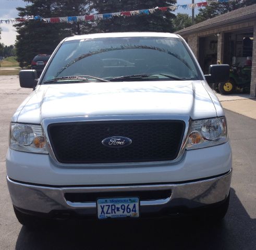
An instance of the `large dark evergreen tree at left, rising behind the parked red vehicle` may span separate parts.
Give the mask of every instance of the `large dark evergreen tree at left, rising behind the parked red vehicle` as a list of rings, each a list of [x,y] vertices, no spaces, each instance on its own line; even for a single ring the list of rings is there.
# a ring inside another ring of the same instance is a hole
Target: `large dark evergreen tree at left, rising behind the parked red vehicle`
[[[65,17],[88,14],[87,0],[23,0],[30,3],[17,8],[19,17]],[[20,67],[28,67],[37,54],[52,54],[58,43],[67,36],[86,32],[87,24],[45,23],[29,20],[15,24],[17,29],[16,53]]]

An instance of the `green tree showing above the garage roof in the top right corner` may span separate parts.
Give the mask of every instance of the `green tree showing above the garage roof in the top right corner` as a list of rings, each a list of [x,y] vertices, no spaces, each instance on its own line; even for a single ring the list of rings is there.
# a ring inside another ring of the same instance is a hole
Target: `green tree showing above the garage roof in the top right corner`
[[[255,0],[233,0],[230,2],[211,3],[205,8],[199,9],[199,14],[196,16],[195,21],[196,23],[202,22],[210,18],[225,14],[229,11],[249,6],[252,4],[255,4]]]

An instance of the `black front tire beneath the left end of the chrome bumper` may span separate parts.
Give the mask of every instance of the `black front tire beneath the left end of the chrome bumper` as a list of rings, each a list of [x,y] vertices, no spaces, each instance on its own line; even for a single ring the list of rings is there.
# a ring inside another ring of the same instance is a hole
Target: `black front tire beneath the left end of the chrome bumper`
[[[50,224],[50,220],[47,218],[40,218],[32,215],[25,214],[14,207],[16,218],[25,227],[31,229],[40,229]]]

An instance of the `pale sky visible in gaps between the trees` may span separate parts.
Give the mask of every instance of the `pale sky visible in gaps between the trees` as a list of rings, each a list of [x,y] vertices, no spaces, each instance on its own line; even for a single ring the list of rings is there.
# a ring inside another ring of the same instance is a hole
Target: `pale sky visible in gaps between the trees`
[[[201,0],[195,0],[195,3],[203,2]],[[191,4],[192,0],[177,0],[177,4]],[[25,7],[27,3],[22,0],[0,0],[0,20],[6,20],[11,18],[18,17],[17,7]],[[159,6],[161,7],[161,6]],[[130,9],[129,9],[130,10]],[[184,10],[182,8],[178,8],[176,13],[187,13],[191,15],[191,9]],[[195,9],[195,14],[197,14],[197,9]],[[5,45],[11,45],[15,43],[17,32],[13,27],[13,24],[5,24],[0,23],[0,27],[2,28],[1,34],[1,43]]]

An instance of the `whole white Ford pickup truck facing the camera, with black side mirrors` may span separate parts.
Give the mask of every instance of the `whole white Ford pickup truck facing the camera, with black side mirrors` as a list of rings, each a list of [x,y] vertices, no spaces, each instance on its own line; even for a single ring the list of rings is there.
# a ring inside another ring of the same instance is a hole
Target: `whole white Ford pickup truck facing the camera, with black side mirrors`
[[[7,183],[18,220],[225,216],[231,148],[223,108],[186,42],[169,33],[64,39],[10,123]],[[206,82],[207,81],[207,82]]]

